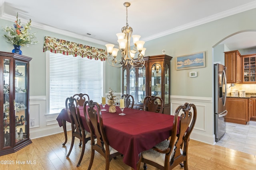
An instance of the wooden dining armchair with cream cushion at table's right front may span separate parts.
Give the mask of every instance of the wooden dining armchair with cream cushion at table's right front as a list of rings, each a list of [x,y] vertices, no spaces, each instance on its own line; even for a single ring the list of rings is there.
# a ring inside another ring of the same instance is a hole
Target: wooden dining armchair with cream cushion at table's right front
[[[190,111],[191,107],[193,111]],[[194,104],[185,103],[179,106],[175,111],[170,141],[162,141],[152,149],[143,151],[137,169],[140,167],[140,162],[144,162],[144,170],[147,169],[146,164],[160,170],[171,170],[178,164],[183,165],[184,162],[184,169],[188,170],[188,142],[196,123],[196,116]]]

